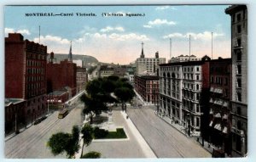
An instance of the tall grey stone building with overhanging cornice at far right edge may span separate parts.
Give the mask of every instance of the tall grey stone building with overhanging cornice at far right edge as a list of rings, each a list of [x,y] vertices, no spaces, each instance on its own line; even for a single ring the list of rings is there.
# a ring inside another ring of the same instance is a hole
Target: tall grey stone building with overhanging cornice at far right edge
[[[247,156],[247,6],[225,9],[231,17],[232,155]]]

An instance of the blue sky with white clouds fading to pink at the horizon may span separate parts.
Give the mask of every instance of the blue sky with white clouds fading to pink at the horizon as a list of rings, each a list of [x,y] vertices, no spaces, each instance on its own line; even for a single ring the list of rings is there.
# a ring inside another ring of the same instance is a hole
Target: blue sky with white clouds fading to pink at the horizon
[[[129,64],[157,51],[161,58],[178,55],[230,58],[229,5],[5,6],[4,32],[48,47],[48,53],[90,55],[100,62]],[[26,14],[61,14],[26,16]],[[63,14],[72,14],[64,16]],[[96,16],[78,16],[95,14]],[[110,14],[110,15],[105,15]],[[138,16],[129,16],[139,14]],[[119,15],[119,16],[116,16]],[[172,39],[172,47],[170,46]],[[172,50],[171,50],[172,48]]]

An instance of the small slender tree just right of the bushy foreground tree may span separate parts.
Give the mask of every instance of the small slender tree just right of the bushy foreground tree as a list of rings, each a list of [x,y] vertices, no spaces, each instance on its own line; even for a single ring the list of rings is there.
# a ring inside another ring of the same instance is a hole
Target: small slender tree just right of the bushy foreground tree
[[[83,155],[83,150],[84,150],[84,144],[87,146],[90,145],[90,142],[92,141],[93,137],[92,137],[92,134],[93,134],[93,128],[88,125],[88,124],[85,124],[81,130],[81,133],[82,133],[82,138],[84,140],[83,142],[83,146],[82,146],[82,154],[81,154],[81,157]]]

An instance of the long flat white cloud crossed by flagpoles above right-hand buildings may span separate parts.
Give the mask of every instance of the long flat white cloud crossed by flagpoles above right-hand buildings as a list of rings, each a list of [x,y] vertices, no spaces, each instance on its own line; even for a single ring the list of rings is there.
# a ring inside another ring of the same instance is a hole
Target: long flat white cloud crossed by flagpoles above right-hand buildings
[[[187,32],[186,34],[182,34],[182,33],[172,33],[166,36],[163,36],[164,39],[167,38],[189,38],[189,36],[191,36],[191,39],[194,40],[211,40],[212,37],[220,37],[220,36],[224,36],[224,33],[212,33],[210,31],[204,31],[202,33],[193,33],[193,32]]]

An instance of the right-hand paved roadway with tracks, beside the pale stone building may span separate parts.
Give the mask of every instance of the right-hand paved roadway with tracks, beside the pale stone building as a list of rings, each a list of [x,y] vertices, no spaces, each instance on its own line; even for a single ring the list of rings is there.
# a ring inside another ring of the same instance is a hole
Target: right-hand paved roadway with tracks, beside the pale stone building
[[[127,109],[127,114],[158,158],[211,157],[197,142],[168,125],[154,115],[154,109],[148,107],[131,107]]]

